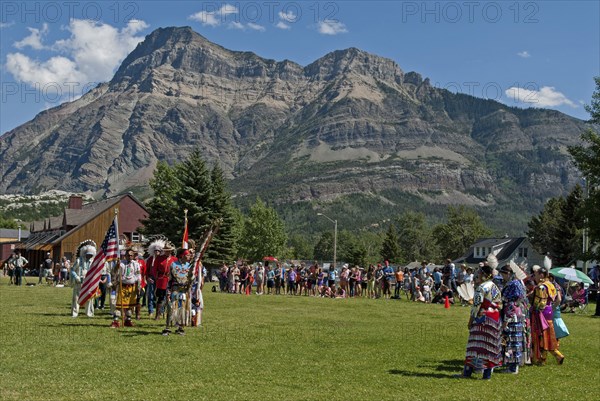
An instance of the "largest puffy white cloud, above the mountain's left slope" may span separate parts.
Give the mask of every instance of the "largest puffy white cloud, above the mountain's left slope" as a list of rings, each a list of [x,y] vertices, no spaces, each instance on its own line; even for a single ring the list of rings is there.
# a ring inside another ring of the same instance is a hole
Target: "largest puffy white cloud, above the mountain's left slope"
[[[144,39],[136,33],[147,27],[140,20],[131,20],[119,30],[104,23],[73,19],[66,27],[71,36],[45,47],[61,55],[40,61],[11,53],[6,56],[6,68],[16,80],[34,88],[52,86],[71,93],[73,87],[81,90],[89,83],[110,80],[123,59]]]

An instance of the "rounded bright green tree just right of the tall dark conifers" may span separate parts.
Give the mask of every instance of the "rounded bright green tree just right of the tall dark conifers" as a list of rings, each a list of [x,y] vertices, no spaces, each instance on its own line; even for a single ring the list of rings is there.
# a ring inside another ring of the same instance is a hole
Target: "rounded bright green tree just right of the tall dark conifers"
[[[257,199],[244,219],[240,254],[250,261],[280,256],[285,252],[286,242],[285,227],[275,209]]]

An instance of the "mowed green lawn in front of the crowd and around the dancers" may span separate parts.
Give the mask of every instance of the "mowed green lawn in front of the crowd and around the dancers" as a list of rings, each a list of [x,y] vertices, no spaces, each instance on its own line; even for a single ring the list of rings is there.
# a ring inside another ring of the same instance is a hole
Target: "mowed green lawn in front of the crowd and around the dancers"
[[[36,279],[30,279],[37,281]],[[0,280],[1,400],[598,400],[600,319],[567,314],[564,365],[456,379],[468,308],[205,289],[201,328],[70,317],[70,288]]]

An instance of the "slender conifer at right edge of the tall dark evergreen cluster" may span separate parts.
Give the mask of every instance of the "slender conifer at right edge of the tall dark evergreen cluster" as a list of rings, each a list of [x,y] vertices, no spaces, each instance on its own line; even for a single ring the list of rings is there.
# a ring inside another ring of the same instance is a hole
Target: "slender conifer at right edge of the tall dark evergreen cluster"
[[[216,164],[211,173],[212,193],[210,199],[211,218],[221,219],[219,231],[213,237],[204,263],[209,267],[219,267],[223,262],[231,262],[236,256],[239,237],[235,208],[231,202],[231,194],[227,190],[227,182],[223,170]]]

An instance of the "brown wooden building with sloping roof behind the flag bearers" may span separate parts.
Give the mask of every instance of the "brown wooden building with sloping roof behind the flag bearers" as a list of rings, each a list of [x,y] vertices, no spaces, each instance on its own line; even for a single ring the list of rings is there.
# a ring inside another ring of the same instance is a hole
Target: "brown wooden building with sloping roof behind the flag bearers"
[[[139,229],[148,211],[135,196],[125,194],[83,204],[81,196],[73,195],[62,216],[32,223],[29,238],[17,248],[23,251],[31,268],[37,268],[47,252],[54,261],[63,256],[73,260],[81,242],[91,239],[97,246],[102,244],[115,211],[119,215],[121,243],[141,242]]]

